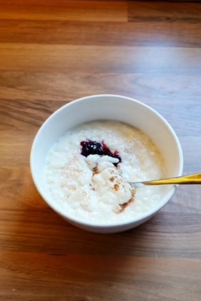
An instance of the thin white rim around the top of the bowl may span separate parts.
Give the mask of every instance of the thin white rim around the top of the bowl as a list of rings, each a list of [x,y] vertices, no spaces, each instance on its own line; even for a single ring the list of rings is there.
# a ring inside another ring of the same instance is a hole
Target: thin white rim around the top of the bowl
[[[168,121],[161,115],[159,114],[156,110],[154,110],[152,107],[149,107],[147,104],[144,104],[141,101],[138,101],[134,98],[130,98],[127,96],[121,96],[121,95],[115,95],[115,94],[97,94],[97,95],[90,95],[90,96],[84,96],[82,98],[78,98],[77,100],[71,101],[67,104],[64,104],[62,107],[58,108],[55,112],[53,112],[42,124],[42,126],[39,128],[38,132],[36,133],[36,136],[33,140],[32,143],[32,147],[31,147],[31,152],[30,152],[30,170],[31,170],[31,175],[33,178],[33,182],[36,186],[36,189],[38,190],[39,194],[42,196],[43,200],[47,203],[47,205],[52,208],[56,213],[58,213],[59,215],[61,215],[64,219],[67,219],[68,221],[70,221],[71,223],[83,226],[83,227],[92,227],[92,228],[117,228],[117,227],[121,227],[121,226],[126,226],[126,225],[132,225],[135,224],[137,222],[149,219],[149,217],[153,216],[155,213],[157,213],[160,209],[162,209],[163,206],[165,206],[166,203],[168,203],[168,201],[171,199],[171,197],[174,195],[176,188],[178,185],[173,185],[172,188],[170,189],[170,191],[168,191],[167,194],[165,194],[165,196],[162,198],[162,200],[156,204],[156,206],[154,206],[152,209],[150,209],[149,211],[142,213],[136,217],[134,217],[133,219],[129,219],[126,221],[120,221],[120,222],[114,222],[114,223],[96,223],[96,222],[91,222],[91,221],[83,221],[81,219],[78,219],[76,216],[73,217],[71,215],[68,215],[68,213],[64,212],[59,205],[57,205],[57,203],[52,203],[48,200],[48,198],[46,197],[46,195],[42,192],[42,190],[40,189],[40,185],[37,182],[37,179],[34,175],[33,172],[33,152],[35,149],[35,145],[37,142],[37,139],[40,135],[40,133],[42,132],[43,128],[46,126],[46,124],[49,122],[50,119],[54,118],[54,116],[56,114],[58,114],[58,112],[60,112],[61,110],[63,110],[65,107],[69,107],[75,103],[79,103],[81,101],[84,101],[86,99],[89,98],[98,98],[98,97],[115,97],[115,98],[124,98],[127,99],[129,101],[133,101],[135,103],[140,104],[141,106],[145,107],[146,109],[148,109],[149,111],[152,111],[152,113],[154,113],[159,119],[162,120],[162,122],[165,124],[165,126],[168,128],[169,132],[171,132],[171,135],[174,138],[174,141],[177,144],[177,149],[178,149],[178,153],[179,153],[179,169],[177,172],[176,176],[181,176],[182,172],[183,172],[183,165],[184,165],[184,159],[183,159],[183,152],[182,152],[182,148],[181,148],[181,144],[179,142],[179,139],[176,135],[176,133],[174,132],[173,128],[171,127],[171,125],[168,123]],[[117,120],[118,121],[118,120]]]

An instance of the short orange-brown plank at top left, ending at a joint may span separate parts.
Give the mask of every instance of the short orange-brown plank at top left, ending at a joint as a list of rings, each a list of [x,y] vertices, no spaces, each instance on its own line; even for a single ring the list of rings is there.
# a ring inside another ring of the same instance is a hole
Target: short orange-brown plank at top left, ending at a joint
[[[127,21],[126,1],[1,0],[1,19]]]

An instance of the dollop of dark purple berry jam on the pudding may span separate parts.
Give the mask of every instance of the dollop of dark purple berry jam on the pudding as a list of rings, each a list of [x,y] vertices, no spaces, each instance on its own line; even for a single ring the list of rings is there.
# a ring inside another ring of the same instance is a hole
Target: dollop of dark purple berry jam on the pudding
[[[117,158],[119,159],[119,162],[121,162],[119,152],[115,151],[114,153],[112,153],[109,147],[103,141],[99,143],[96,141],[86,140],[81,141],[80,145],[82,146],[81,154],[85,157],[88,157],[89,155],[109,156],[112,158]],[[118,163],[113,164],[117,166]]]

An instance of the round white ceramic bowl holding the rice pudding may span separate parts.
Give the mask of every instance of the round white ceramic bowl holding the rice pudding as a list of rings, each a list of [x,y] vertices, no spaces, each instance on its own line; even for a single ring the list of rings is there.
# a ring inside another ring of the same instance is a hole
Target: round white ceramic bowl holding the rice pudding
[[[118,120],[145,132],[160,149],[167,168],[167,176],[180,176],[183,171],[183,155],[179,140],[168,122],[155,110],[132,98],[119,95],[93,95],[64,105],[53,113],[39,129],[32,145],[30,166],[33,181],[46,203],[64,219],[77,227],[99,233],[114,233],[136,227],[150,219],[173,196],[176,186],[167,185],[165,195],[155,208],[137,218],[113,225],[82,222],[76,216],[63,212],[46,189],[44,167],[52,145],[68,129],[87,121]]]

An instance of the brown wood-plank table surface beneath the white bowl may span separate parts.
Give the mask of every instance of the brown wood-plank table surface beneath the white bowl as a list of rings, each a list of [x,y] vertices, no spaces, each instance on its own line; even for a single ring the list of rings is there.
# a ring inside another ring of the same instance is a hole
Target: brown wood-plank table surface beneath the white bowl
[[[39,196],[29,155],[53,111],[111,93],[158,110],[200,172],[201,3],[0,2],[0,299],[200,301],[201,186],[131,231],[87,233]]]

